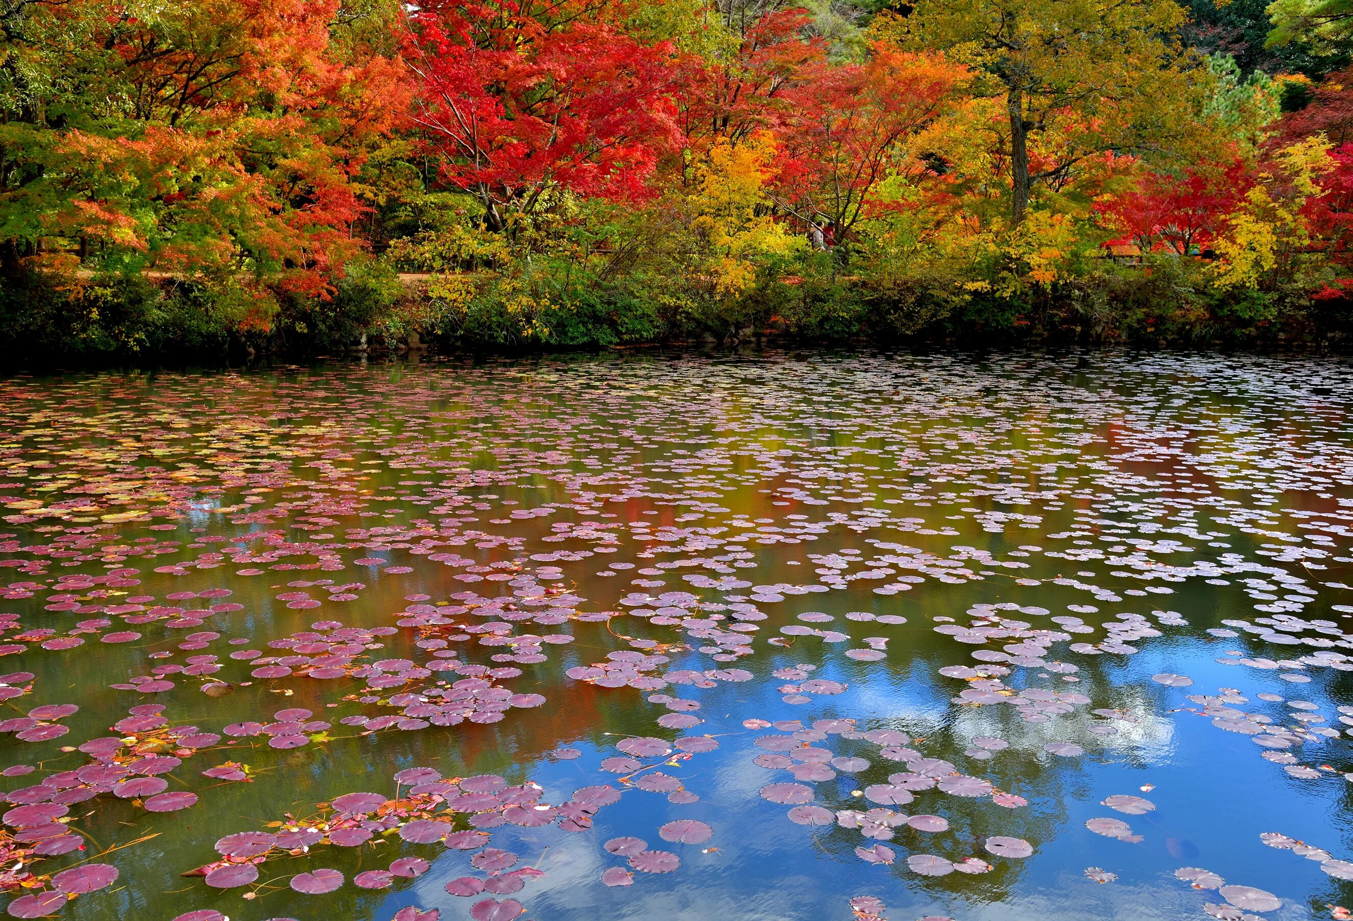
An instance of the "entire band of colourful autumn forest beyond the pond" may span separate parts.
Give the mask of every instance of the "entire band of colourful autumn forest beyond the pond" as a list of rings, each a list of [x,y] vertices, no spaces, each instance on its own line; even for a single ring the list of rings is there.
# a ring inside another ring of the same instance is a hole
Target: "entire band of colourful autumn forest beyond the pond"
[[[1348,0],[0,0],[0,364],[1353,341]]]

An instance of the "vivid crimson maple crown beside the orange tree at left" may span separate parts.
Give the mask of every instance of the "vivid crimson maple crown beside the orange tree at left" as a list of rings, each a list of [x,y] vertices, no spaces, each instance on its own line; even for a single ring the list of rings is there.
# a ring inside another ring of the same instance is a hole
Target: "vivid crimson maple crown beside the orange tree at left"
[[[552,189],[614,200],[648,195],[676,138],[667,46],[603,23],[551,22],[511,0],[414,14],[409,54],[422,77],[415,120],[452,184],[530,211]]]

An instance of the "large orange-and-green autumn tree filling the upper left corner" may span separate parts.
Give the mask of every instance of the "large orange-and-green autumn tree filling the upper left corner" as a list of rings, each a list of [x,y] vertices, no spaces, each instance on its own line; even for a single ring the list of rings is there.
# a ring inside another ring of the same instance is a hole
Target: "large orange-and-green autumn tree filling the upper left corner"
[[[364,31],[372,9],[352,14],[341,0],[16,5],[0,61],[8,269],[68,238],[133,270],[322,295],[357,249],[353,177],[409,101],[388,24]]]

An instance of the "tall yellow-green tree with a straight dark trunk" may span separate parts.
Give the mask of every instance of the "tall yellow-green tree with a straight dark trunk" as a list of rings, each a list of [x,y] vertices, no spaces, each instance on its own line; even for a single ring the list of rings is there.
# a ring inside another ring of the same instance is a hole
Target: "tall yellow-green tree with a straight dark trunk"
[[[877,31],[948,50],[1001,100],[993,131],[1019,225],[1040,185],[1088,158],[1178,153],[1207,84],[1177,38],[1184,19],[1174,0],[919,0]]]

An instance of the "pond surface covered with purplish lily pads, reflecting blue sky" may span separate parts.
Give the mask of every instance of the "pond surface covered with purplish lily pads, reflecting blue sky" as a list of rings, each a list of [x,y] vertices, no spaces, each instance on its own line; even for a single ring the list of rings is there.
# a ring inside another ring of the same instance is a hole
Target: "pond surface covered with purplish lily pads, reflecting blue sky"
[[[0,898],[1348,917],[1350,407],[1216,356],[3,380]]]

